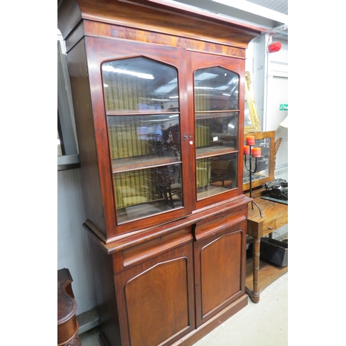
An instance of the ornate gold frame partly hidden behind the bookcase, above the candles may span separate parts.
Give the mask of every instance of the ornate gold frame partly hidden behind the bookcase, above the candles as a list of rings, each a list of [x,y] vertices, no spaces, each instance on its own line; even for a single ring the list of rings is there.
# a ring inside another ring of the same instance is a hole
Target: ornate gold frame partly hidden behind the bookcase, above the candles
[[[253,89],[250,72],[245,72],[245,102],[244,102],[244,133],[262,131]]]

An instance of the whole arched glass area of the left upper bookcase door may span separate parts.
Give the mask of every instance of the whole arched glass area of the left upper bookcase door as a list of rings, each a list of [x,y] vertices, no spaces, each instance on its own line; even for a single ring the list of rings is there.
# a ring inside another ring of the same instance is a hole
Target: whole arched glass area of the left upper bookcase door
[[[178,71],[147,57],[102,64],[118,224],[183,207]]]

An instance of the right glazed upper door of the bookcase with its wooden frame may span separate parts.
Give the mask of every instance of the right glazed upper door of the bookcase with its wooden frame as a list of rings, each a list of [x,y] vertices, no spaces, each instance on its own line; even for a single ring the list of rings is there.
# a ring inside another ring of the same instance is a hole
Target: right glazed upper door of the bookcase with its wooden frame
[[[244,60],[188,52],[188,61],[198,209],[242,194]]]

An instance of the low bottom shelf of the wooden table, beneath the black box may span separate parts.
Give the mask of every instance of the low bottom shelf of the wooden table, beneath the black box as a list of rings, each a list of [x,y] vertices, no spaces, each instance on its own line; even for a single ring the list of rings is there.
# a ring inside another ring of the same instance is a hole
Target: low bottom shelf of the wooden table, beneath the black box
[[[288,271],[289,266],[275,266],[260,260],[260,271],[258,273],[259,293]],[[253,257],[246,260],[245,291],[250,296],[253,293]]]

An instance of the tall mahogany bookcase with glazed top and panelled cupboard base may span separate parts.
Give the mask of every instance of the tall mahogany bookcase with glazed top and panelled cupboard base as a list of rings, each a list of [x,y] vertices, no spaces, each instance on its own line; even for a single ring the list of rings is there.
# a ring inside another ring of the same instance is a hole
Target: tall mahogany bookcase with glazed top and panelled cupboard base
[[[192,345],[248,302],[244,66],[262,29],[156,0],[63,0],[58,28],[102,343]]]

